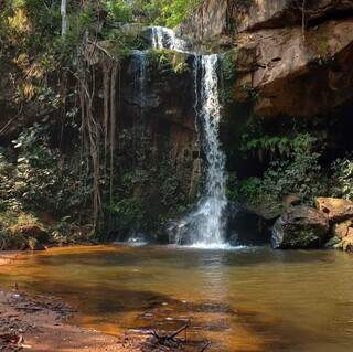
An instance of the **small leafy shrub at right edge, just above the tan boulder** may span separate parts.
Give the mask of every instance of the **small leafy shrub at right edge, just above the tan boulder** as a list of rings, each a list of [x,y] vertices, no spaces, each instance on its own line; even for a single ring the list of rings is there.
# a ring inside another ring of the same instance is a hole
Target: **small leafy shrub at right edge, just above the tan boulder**
[[[333,195],[353,200],[353,160],[351,158],[338,159],[332,164]]]

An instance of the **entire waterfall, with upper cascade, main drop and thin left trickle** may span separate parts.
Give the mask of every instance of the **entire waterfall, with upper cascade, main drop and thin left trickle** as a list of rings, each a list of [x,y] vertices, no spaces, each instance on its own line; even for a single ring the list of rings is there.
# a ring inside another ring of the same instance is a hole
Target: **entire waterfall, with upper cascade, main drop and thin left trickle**
[[[196,209],[173,228],[173,241],[200,247],[225,246],[223,214],[227,205],[225,156],[218,132],[221,107],[218,99],[217,55],[197,55],[189,51],[189,43],[176,38],[174,31],[162,26],[149,28],[151,46],[156,50],[174,50],[194,56],[194,109],[197,134],[205,156],[204,192]],[[136,102],[141,108],[146,100],[147,52],[135,52]]]

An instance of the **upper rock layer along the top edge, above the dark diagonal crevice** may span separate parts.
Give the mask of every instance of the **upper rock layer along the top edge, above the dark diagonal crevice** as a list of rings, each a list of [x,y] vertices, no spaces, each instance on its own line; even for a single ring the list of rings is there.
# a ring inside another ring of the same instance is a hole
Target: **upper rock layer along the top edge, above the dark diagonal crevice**
[[[346,15],[352,0],[205,0],[180,26],[181,34],[194,41],[212,41],[220,35],[264,29],[314,24],[328,18]]]

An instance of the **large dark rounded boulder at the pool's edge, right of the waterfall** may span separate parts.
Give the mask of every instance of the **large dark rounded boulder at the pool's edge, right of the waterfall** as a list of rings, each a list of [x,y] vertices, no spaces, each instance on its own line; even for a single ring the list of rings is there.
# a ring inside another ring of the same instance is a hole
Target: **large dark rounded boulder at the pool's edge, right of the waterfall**
[[[313,207],[299,205],[288,209],[275,223],[274,248],[318,248],[329,238],[328,216]]]

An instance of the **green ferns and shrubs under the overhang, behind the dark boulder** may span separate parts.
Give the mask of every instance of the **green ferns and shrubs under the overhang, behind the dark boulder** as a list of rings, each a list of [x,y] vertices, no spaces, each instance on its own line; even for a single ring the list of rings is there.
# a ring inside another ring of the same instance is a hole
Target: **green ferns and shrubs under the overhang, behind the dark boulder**
[[[308,134],[292,139],[265,136],[252,140],[248,148],[265,148],[278,152],[285,160],[272,161],[263,178],[249,178],[240,183],[240,194],[253,203],[281,202],[288,194],[297,194],[311,203],[317,195],[328,193],[328,179],[319,163],[317,139]]]

